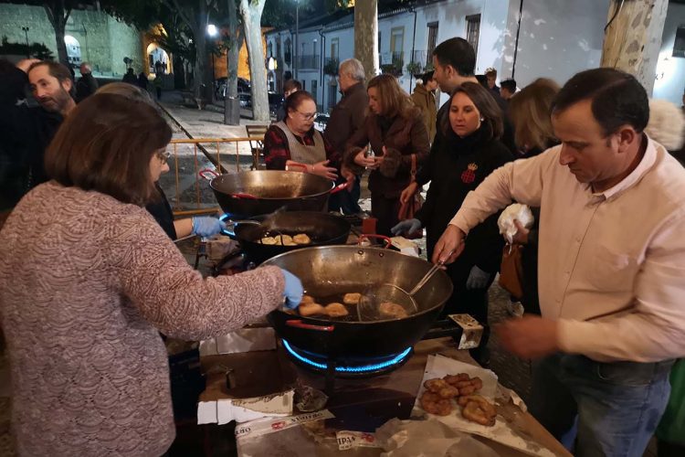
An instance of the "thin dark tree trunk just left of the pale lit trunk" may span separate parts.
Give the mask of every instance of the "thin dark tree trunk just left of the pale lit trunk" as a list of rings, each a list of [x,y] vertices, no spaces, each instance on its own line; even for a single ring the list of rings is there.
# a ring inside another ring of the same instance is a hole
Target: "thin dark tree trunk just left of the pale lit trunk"
[[[226,52],[227,88],[224,98],[224,123],[240,124],[240,99],[237,97],[237,64],[245,34],[237,20],[236,0],[227,0],[228,49]]]

